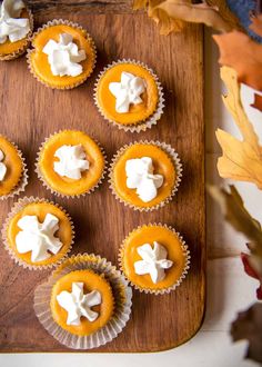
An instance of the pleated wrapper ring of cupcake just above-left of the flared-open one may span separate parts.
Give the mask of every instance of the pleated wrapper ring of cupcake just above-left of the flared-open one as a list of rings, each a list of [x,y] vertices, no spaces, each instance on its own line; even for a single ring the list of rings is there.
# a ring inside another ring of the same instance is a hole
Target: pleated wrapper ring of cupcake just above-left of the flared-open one
[[[57,208],[59,208],[60,210],[62,210],[66,215],[67,218],[70,221],[71,225],[71,229],[72,229],[72,240],[71,240],[71,245],[69,246],[67,252],[64,254],[63,257],[61,257],[57,262],[53,264],[48,264],[48,265],[31,265],[26,262],[24,260],[22,260],[21,258],[19,258],[17,256],[17,254],[12,250],[12,248],[9,245],[8,241],[8,226],[10,224],[10,220],[19,212],[21,211],[27,205],[32,204],[32,202],[47,202],[47,204],[51,204],[53,206],[56,206]],[[10,257],[16,261],[16,264],[22,266],[24,269],[29,269],[29,270],[42,270],[42,269],[51,269],[53,267],[57,267],[58,265],[60,265],[66,258],[68,258],[68,254],[71,251],[73,242],[74,242],[74,226],[72,222],[71,217],[69,216],[69,214],[62,208],[60,207],[58,204],[54,204],[53,201],[47,200],[47,199],[40,199],[40,198],[34,198],[34,197],[24,197],[22,199],[19,199],[14,206],[12,207],[11,211],[9,212],[7,220],[3,224],[2,230],[2,241],[3,241],[3,246],[6,248],[6,250],[9,252]]]

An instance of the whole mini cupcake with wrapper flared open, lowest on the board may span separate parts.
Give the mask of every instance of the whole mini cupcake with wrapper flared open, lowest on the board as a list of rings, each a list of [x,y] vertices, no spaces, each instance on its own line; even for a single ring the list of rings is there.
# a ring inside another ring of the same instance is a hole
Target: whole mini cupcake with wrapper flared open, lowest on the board
[[[111,262],[94,255],[67,259],[34,291],[34,311],[59,343],[98,348],[122,331],[131,314],[132,290]]]

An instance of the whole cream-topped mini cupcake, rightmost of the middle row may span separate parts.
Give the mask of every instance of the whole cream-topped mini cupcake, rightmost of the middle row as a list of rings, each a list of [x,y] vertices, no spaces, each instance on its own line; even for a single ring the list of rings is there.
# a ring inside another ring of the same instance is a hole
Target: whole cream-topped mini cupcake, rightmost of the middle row
[[[110,166],[110,188],[125,206],[140,211],[163,207],[178,190],[182,166],[171,146],[139,141],[122,147]]]

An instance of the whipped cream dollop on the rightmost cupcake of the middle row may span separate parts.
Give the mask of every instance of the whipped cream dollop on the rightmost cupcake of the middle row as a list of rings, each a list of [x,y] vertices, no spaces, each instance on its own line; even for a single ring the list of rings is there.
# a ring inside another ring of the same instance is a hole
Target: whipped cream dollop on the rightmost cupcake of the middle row
[[[139,198],[149,202],[158,196],[163,185],[162,175],[153,175],[153,162],[150,157],[129,159],[125,162],[127,186],[137,189]]]

